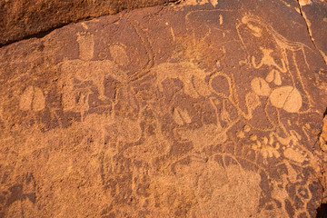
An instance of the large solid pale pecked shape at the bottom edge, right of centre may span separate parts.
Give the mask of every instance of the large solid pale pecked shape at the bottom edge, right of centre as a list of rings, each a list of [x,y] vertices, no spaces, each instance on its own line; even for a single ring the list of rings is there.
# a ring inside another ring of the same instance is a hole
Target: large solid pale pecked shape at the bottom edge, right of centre
[[[176,200],[186,197],[186,201],[189,196],[195,197],[197,205],[191,208],[187,215],[215,217],[228,213],[231,217],[237,217],[240,213],[246,216],[255,213],[260,202],[260,175],[244,170],[237,163],[221,164],[219,158],[222,156],[217,155],[207,162],[201,158],[191,158],[188,164],[175,163],[174,174],[170,173],[164,178],[155,177],[151,186],[158,192],[159,205],[166,203],[170,209],[173,209],[175,204],[178,205],[177,201],[169,198],[172,193],[163,193],[163,189],[170,187],[168,190],[173,191]],[[227,155],[223,156],[223,162],[228,158]],[[250,201],[250,208],[243,203],[245,199]],[[238,206],[236,210],[233,205]]]

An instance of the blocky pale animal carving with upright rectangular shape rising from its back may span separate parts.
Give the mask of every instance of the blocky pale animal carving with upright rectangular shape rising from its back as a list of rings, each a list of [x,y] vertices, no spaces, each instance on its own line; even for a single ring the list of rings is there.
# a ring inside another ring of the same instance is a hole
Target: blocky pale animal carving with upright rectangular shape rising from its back
[[[128,63],[129,59],[123,46],[112,45],[110,53],[114,62],[93,61],[94,35],[90,33],[78,33],[77,43],[80,59],[64,61],[58,64],[58,68],[63,73],[60,86],[63,90],[64,110],[80,112],[83,118],[84,112],[89,110],[90,94],[95,92],[100,100],[104,102],[107,100],[104,94],[106,76],[110,75],[122,84],[127,83],[128,76],[118,65]]]

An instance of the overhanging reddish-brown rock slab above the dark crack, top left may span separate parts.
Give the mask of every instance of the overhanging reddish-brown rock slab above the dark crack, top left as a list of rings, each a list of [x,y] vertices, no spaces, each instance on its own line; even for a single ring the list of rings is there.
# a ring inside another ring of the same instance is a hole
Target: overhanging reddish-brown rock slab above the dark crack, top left
[[[174,0],[0,0],[0,45],[42,36],[56,27],[124,9],[163,5]]]

